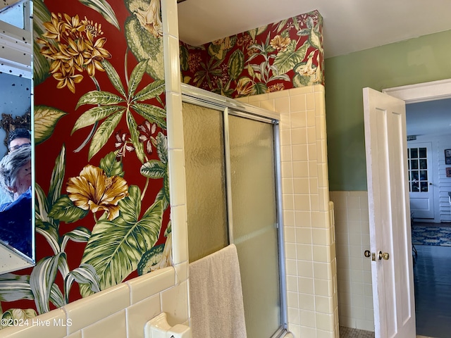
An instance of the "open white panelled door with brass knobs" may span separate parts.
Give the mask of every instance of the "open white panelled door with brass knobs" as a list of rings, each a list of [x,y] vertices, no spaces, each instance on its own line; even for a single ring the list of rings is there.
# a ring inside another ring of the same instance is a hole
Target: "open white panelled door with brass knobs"
[[[364,126],[376,338],[414,338],[404,101],[364,88]]]

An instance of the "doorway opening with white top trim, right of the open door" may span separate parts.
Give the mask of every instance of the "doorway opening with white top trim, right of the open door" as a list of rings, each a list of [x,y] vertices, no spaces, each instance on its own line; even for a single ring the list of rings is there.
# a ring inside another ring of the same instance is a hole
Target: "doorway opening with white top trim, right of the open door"
[[[384,91],[406,101],[410,195],[416,198],[423,190],[427,196],[413,201],[411,208],[416,334],[428,337],[447,337],[451,330],[451,246],[440,245],[451,237],[451,177],[446,177],[451,163],[445,160],[445,149],[451,148],[449,85],[445,80]]]

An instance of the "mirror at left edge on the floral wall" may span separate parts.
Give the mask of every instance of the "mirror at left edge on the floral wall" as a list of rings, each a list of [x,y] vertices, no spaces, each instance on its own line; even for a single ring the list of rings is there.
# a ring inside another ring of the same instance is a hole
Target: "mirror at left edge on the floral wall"
[[[17,128],[30,131],[32,153],[31,167],[25,169],[23,165],[24,170],[30,173],[27,175],[31,175],[27,199],[20,199],[17,195],[13,198],[16,198],[14,206],[8,204],[6,207],[6,203],[13,202],[11,197],[8,201],[7,194],[0,189],[0,194],[3,194],[0,205],[0,274],[35,265],[31,13],[31,0],[0,2],[0,158],[8,154],[8,134]]]

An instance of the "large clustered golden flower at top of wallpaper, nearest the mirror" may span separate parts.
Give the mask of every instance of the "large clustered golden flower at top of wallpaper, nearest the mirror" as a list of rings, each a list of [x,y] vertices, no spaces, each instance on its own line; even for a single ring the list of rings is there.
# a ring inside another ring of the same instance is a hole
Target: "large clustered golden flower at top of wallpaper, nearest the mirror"
[[[50,73],[58,89],[68,87],[75,93],[75,84],[83,80],[79,73],[86,70],[94,77],[96,70],[104,71],[101,61],[111,54],[104,49],[106,38],[99,38],[101,25],[61,13],[51,13],[51,21],[43,25],[47,31],[36,41],[42,44],[41,54],[51,60]]]

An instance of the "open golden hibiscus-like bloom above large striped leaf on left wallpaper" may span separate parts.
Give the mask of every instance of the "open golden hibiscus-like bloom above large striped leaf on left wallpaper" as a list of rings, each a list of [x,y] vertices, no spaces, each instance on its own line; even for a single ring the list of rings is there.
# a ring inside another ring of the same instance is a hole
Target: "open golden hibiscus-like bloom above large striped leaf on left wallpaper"
[[[122,177],[107,177],[94,165],[86,165],[80,176],[70,177],[66,190],[75,206],[92,213],[106,211],[109,220],[118,217],[118,202],[128,196],[128,184]]]

